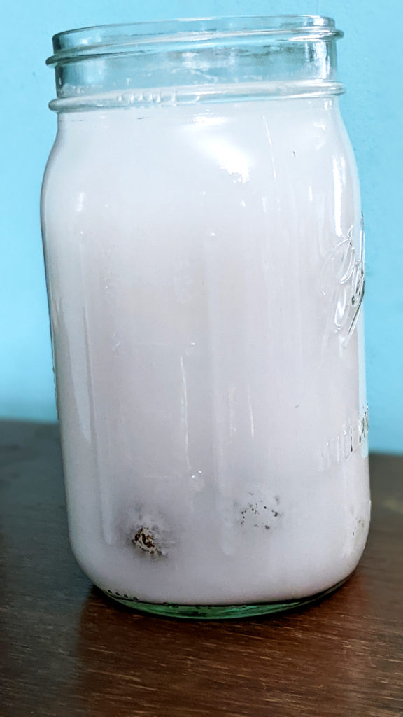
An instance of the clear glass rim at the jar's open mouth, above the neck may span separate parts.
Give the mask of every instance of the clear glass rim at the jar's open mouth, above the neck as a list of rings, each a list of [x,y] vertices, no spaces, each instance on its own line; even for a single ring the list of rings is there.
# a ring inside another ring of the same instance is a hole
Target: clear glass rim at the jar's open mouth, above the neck
[[[64,65],[90,57],[180,50],[219,44],[315,42],[343,37],[331,17],[275,15],[208,17],[98,25],[59,32],[47,65]]]

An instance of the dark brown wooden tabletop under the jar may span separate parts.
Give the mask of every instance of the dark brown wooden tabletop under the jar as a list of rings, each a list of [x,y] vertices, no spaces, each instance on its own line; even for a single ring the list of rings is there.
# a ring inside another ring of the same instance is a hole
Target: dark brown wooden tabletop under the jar
[[[403,457],[371,457],[369,543],[333,596],[189,622],[91,587],[67,541],[57,426],[0,427],[1,717],[402,717]]]

